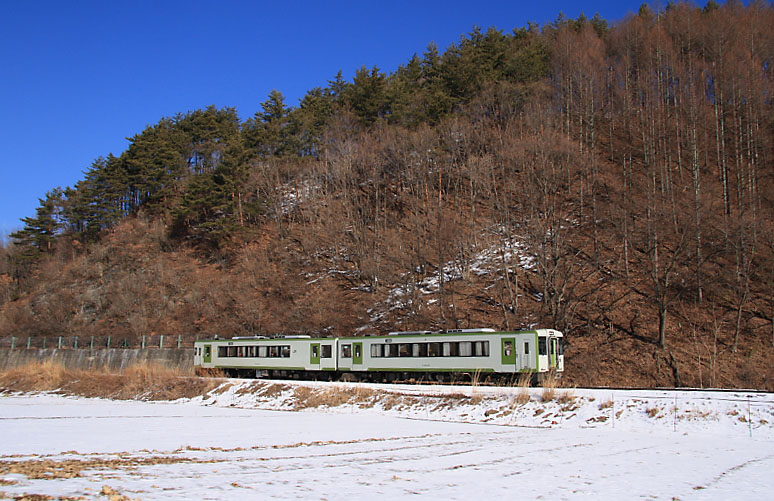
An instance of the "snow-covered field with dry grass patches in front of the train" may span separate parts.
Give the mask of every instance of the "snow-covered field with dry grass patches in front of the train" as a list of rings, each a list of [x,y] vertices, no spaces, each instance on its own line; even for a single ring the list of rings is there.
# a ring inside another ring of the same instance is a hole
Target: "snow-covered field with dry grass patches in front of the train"
[[[0,498],[772,498],[772,394],[524,391],[230,380],[162,403],[6,394]]]

